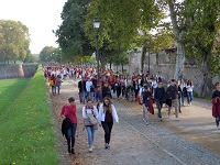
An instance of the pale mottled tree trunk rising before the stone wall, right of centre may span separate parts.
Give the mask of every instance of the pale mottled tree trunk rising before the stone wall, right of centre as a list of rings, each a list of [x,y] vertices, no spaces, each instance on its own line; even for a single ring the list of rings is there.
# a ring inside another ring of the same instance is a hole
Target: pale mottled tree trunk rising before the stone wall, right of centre
[[[178,78],[183,77],[183,73],[184,73],[185,48],[184,48],[184,45],[180,43],[182,33],[179,32],[179,28],[178,28],[177,21],[176,21],[176,12],[175,12],[175,9],[174,9],[174,1],[167,0],[167,3],[168,3],[168,7],[169,7],[170,20],[172,20],[172,24],[173,24],[174,35],[176,36],[176,41],[177,41],[177,44],[178,44],[175,73],[174,73],[174,78],[176,80],[178,80]]]

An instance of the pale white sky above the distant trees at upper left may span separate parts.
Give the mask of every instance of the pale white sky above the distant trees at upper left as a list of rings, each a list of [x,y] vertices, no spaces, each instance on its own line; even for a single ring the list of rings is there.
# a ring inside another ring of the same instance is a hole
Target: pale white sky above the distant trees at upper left
[[[32,54],[45,46],[58,47],[53,30],[61,25],[67,0],[0,0],[0,20],[20,21],[29,28]]]

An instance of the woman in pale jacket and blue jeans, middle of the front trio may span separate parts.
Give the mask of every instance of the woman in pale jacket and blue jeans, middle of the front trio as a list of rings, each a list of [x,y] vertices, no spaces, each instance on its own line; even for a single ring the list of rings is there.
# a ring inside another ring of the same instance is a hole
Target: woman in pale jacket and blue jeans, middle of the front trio
[[[88,99],[86,106],[82,108],[82,119],[84,119],[84,127],[86,128],[88,134],[88,144],[89,144],[89,152],[94,150],[94,134],[95,130],[97,129],[97,124],[92,124],[90,122],[90,117],[95,117],[98,121],[98,111],[96,106],[92,105],[92,100]]]

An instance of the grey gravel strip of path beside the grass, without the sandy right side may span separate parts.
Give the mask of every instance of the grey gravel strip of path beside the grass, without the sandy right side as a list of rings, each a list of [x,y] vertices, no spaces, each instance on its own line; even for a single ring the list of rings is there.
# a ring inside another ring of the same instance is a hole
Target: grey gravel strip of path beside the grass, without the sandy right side
[[[68,97],[74,96],[78,108],[78,128],[76,138],[76,155],[72,156],[73,165],[179,165],[179,164],[218,164],[220,157],[197,143],[185,139],[178,133],[166,129],[163,124],[152,120],[145,125],[142,116],[130,108],[113,100],[118,110],[119,124],[112,129],[111,147],[103,148],[103,130],[99,128],[95,133],[94,153],[88,152],[87,133],[82,131],[81,108],[78,101],[77,81],[65,81],[59,96],[52,96],[55,114]],[[196,100],[195,100],[196,102]],[[142,107],[140,106],[140,111]],[[61,138],[61,132],[57,132]],[[69,164],[64,139],[57,144],[61,164]],[[62,150],[61,150],[62,148]]]

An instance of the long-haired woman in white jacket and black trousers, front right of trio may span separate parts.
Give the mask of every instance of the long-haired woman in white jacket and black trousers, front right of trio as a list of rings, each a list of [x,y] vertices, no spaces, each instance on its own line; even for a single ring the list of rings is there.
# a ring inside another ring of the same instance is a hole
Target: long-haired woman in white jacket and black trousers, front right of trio
[[[109,97],[103,99],[103,103],[99,107],[99,125],[102,125],[105,131],[105,147],[109,148],[111,130],[113,127],[113,120],[118,123],[119,118],[117,114],[116,107],[112,105]]]

